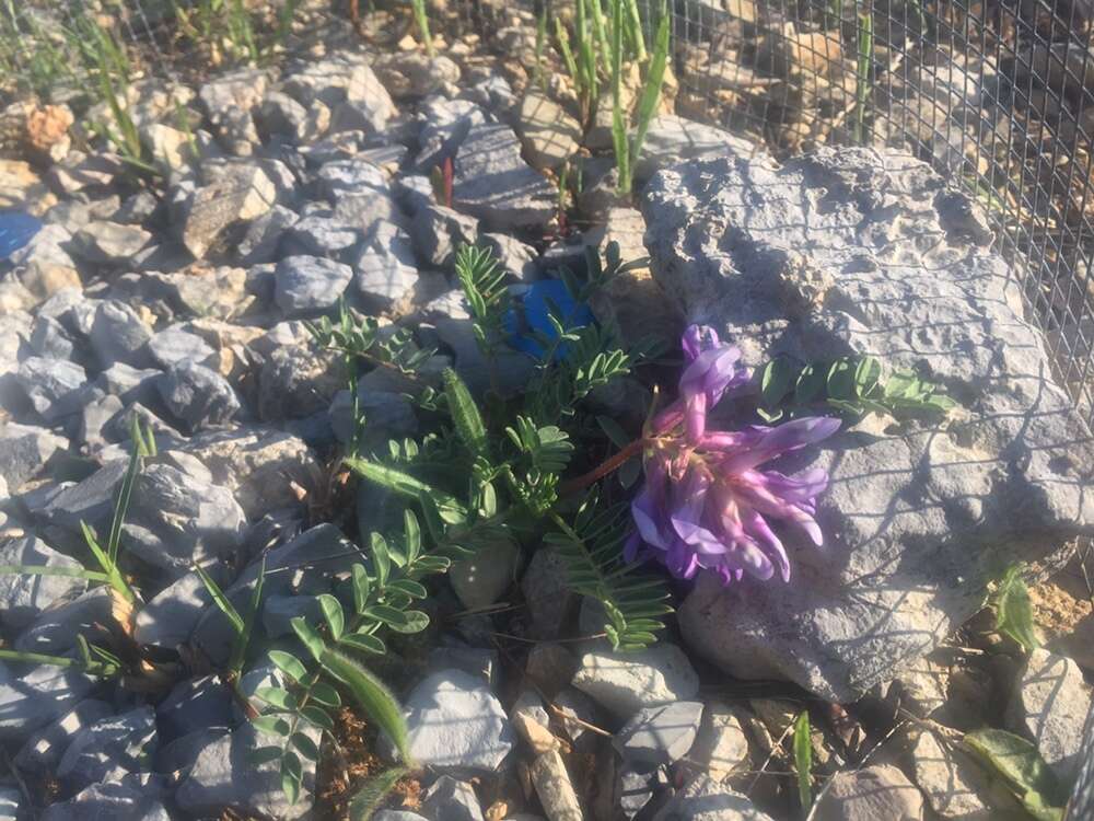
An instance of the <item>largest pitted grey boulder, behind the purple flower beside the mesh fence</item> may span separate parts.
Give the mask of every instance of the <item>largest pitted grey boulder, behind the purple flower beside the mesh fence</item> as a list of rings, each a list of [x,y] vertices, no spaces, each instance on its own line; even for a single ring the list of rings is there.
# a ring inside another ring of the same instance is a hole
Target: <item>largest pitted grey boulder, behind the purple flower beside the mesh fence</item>
[[[827,469],[826,546],[787,532],[789,583],[701,576],[680,608],[696,651],[734,675],[857,699],[976,612],[1014,560],[1094,527],[1094,444],[1050,377],[975,206],[896,151],[695,161],[645,188],[652,270],[688,321],[758,366],[849,352],[941,382],[941,425],[866,424],[806,452]],[[729,228],[729,227],[732,227]]]

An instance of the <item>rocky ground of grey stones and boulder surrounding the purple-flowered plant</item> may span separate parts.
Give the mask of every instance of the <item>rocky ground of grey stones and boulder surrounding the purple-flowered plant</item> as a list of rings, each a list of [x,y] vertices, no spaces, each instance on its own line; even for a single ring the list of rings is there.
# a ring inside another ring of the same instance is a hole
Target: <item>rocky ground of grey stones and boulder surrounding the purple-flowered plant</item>
[[[652,257],[594,305],[625,335],[671,339],[686,319],[754,365],[871,352],[941,381],[962,409],[941,429],[841,435],[822,456],[828,553],[795,554],[790,586],[680,590],[678,622],[642,652],[586,638],[595,613],[549,548],[452,574],[431,602],[439,626],[377,664],[427,767],[377,819],[802,818],[789,737],[803,709],[814,819],[1023,817],[961,743],[984,726],[1034,741],[1073,782],[1094,614],[1069,559],[1094,528],[1094,446],[967,199],[898,151],[748,159],[756,144],[674,114],[670,95],[633,207],[613,195],[603,129],[583,135],[565,89],[529,90],[474,37],[435,58],[345,37],[313,50],[193,86],[137,83],[154,183],[73,147],[70,118],[9,112],[22,157],[0,159],[0,201],[45,227],[0,263],[0,564],[85,560],[80,522],[108,529],[135,417],[159,454],[125,529],[143,594],[131,613],[80,578],[0,577],[4,648],[74,655],[78,634],[119,646],[123,624],[148,673],[0,666],[5,813],[346,817],[351,787],[386,761],[374,729],[340,715],[288,801],[211,673],[230,639],[191,566],[237,598],[264,559],[275,646],[295,643],[291,617],[318,618],[370,508],[337,465],[352,429],[341,363],[304,320],[345,301],[437,348],[427,375],[453,365],[481,389],[452,268],[464,242],[492,248],[520,292],[617,241]],[[560,210],[556,172],[581,147],[584,190]],[[434,172],[446,159],[450,204]],[[502,390],[527,373],[510,357]],[[370,447],[424,432],[383,369],[356,390]],[[1052,577],[1033,590],[1032,654],[984,609],[1013,560]],[[280,677],[258,660],[241,692]]]

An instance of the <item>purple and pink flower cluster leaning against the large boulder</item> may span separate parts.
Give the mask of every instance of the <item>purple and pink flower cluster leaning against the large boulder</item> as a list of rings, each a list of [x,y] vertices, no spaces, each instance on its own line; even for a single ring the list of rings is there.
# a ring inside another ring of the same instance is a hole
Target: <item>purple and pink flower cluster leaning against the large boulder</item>
[[[828,474],[815,469],[785,476],[760,467],[831,436],[839,420],[710,430],[708,412],[744,389],[749,377],[737,367],[741,351],[723,345],[712,328],[690,326],[683,347],[688,365],[679,398],[644,432],[645,484],[631,505],[637,532],[626,547],[628,559],[652,555],[685,579],[707,569],[724,583],[745,574],[769,579],[776,570],[789,580],[787,551],[768,520],[794,524],[821,545],[814,516]]]

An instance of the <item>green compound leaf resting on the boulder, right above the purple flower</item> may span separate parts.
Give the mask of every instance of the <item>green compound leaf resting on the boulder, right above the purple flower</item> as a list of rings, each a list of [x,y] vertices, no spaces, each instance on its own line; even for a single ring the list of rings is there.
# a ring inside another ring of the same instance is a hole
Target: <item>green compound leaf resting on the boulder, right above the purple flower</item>
[[[910,371],[895,371],[883,379],[875,357],[839,357],[802,365],[776,357],[756,377],[760,393],[757,413],[765,421],[815,410],[823,405],[852,417],[874,412],[946,415],[956,404],[940,385]]]

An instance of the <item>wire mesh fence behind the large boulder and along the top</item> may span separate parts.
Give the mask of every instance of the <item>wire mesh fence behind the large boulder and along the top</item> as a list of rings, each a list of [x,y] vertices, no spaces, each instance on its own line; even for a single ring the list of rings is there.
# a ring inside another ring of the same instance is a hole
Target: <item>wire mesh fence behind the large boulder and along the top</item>
[[[544,39],[554,47],[546,21],[572,19],[574,3],[587,0],[546,1],[450,0],[446,20],[455,34],[515,56]],[[968,193],[1045,333],[1058,379],[1094,423],[1094,4],[638,0],[638,8],[648,41],[671,14],[677,114],[777,157],[822,144],[908,149]],[[173,76],[177,9],[172,0],[0,0],[0,100],[79,65],[71,51],[89,15],[109,21],[146,72]],[[1083,773],[1079,789],[1090,793],[1094,766]]]

